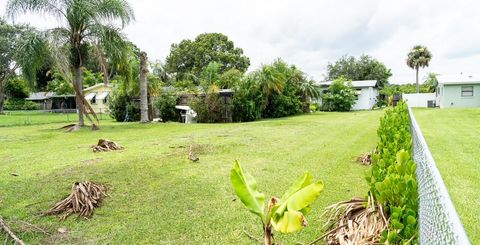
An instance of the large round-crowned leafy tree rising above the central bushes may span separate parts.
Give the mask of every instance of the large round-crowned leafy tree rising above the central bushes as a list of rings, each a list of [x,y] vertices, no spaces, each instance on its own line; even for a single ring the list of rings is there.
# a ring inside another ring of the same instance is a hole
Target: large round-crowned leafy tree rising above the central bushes
[[[204,33],[193,41],[186,39],[179,44],[172,44],[165,68],[177,81],[189,80],[191,75],[200,77],[210,62],[222,65],[220,73],[232,68],[245,72],[250,65],[250,59],[243,54],[243,50],[235,47],[227,36]],[[198,85],[197,81],[195,83]]]

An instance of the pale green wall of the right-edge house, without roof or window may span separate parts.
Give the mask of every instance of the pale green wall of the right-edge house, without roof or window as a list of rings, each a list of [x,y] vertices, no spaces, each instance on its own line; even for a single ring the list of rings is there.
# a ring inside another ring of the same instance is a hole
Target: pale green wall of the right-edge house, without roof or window
[[[473,96],[462,96],[462,86],[473,86]],[[437,88],[440,108],[480,107],[480,84],[441,84]]]

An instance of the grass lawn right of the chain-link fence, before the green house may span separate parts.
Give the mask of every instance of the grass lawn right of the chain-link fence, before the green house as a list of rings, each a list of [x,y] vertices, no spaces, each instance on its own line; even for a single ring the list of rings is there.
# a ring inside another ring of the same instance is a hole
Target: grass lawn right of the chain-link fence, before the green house
[[[472,244],[480,243],[480,109],[415,109]]]

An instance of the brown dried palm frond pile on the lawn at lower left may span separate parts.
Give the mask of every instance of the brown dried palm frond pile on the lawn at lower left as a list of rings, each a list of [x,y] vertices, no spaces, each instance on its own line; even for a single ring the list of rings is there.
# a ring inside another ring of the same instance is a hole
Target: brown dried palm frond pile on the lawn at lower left
[[[84,181],[76,182],[72,186],[72,193],[62,201],[58,202],[44,215],[60,215],[65,220],[71,214],[78,214],[78,217],[90,218],[95,208],[100,207],[102,200],[107,196],[107,188],[101,184]]]

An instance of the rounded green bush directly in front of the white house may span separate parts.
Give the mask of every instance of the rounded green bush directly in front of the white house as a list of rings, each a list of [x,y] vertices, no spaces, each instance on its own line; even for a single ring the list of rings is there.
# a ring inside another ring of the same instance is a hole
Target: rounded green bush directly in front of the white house
[[[355,104],[355,89],[351,81],[339,78],[322,95],[323,111],[350,111]]]

